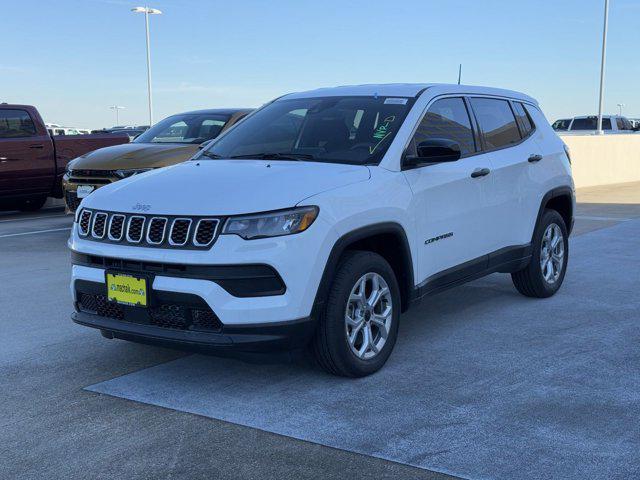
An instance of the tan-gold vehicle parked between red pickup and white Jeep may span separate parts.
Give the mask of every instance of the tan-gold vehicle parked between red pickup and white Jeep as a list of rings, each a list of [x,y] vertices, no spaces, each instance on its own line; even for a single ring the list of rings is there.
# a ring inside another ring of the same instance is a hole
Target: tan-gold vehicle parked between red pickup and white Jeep
[[[126,145],[102,148],[70,162],[64,197],[74,212],[84,197],[103,185],[191,158],[198,148],[244,118],[250,109],[212,109],[172,115]]]

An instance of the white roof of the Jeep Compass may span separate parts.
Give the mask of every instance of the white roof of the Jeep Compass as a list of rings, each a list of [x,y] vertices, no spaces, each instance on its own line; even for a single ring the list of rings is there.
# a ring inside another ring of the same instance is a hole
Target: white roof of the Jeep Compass
[[[337,97],[337,96],[375,96],[381,97],[415,97],[426,89],[447,90],[447,93],[460,93],[470,95],[496,95],[500,97],[518,98],[528,102],[538,103],[532,97],[524,93],[501,88],[480,87],[474,85],[457,85],[446,83],[386,83],[370,85],[344,85],[340,87],[318,88],[306,92],[290,93],[281,99],[313,98],[313,97]]]

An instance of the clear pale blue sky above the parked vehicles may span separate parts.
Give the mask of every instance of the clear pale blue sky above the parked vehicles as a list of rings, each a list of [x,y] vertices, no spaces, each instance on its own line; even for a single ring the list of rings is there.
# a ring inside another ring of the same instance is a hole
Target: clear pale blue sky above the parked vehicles
[[[151,1],[151,0],[149,0]],[[640,117],[640,0],[611,0],[605,110]],[[291,91],[455,82],[536,97],[550,120],[596,112],[604,0],[154,0],[156,121]],[[0,102],[78,127],[147,123],[136,1],[0,0]]]

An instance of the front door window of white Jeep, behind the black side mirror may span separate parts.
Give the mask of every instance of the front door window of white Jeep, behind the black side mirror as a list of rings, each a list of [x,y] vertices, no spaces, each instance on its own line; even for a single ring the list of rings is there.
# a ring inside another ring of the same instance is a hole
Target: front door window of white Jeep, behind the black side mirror
[[[469,112],[462,98],[443,98],[429,107],[411,140],[409,152],[417,155],[417,145],[432,138],[457,142],[463,156],[476,151]]]

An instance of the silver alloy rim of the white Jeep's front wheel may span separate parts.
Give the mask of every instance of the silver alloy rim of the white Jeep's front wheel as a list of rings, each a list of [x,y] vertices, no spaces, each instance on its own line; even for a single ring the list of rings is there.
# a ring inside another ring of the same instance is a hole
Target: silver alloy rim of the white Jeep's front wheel
[[[387,342],[392,321],[389,285],[381,275],[365,273],[351,289],[344,314],[351,352],[361,360],[378,355]]]

